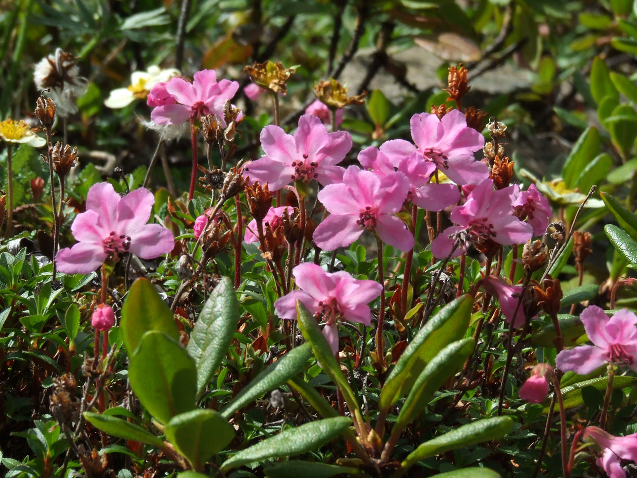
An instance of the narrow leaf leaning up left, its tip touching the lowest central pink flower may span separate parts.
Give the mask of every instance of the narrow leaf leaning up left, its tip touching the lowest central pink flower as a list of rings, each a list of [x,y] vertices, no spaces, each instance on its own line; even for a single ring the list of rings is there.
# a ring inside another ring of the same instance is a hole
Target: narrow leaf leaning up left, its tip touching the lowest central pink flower
[[[345,375],[341,372],[341,367],[334,358],[332,349],[329,344],[327,344],[327,340],[323,336],[323,333],[318,326],[318,322],[310,314],[310,312],[308,312],[308,309],[305,308],[301,301],[296,301],[296,315],[299,329],[301,329],[301,333],[303,333],[305,340],[310,342],[312,350],[314,351],[320,365],[323,367],[323,370],[336,384],[336,386],[338,386],[341,393],[343,393],[343,398],[345,398],[345,402],[347,402],[347,407],[355,416],[355,419],[358,423],[362,423],[358,400],[356,400],[356,396],[354,395],[350,384],[347,382],[347,379],[345,379]]]

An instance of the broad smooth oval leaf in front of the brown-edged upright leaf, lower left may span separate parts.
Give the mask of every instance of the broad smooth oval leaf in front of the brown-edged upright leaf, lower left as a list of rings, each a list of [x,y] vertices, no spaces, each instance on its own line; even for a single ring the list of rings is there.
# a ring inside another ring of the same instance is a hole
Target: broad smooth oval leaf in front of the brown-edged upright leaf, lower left
[[[197,370],[186,349],[160,331],[141,338],[128,379],[140,403],[161,423],[195,407]]]

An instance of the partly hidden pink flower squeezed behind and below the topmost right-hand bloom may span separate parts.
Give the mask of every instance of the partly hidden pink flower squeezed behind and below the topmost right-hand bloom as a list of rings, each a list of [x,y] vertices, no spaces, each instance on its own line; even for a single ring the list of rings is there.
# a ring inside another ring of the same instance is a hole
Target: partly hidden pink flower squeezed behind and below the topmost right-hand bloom
[[[379,177],[394,173],[396,169],[378,148],[370,146],[359,153],[359,163],[366,170],[373,171]],[[431,173],[436,169],[433,163],[413,161],[404,158],[398,164],[398,171],[409,181],[407,201],[427,211],[440,211],[455,204],[460,199],[460,191],[455,184],[431,183]]]

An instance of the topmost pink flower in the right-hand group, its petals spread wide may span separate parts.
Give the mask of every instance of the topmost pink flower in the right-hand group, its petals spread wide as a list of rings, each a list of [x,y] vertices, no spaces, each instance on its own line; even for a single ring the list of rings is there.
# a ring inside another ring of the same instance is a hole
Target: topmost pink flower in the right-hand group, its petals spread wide
[[[380,150],[394,166],[404,158],[420,158],[432,163],[455,184],[479,184],[489,177],[486,164],[475,161],[473,153],[482,149],[484,137],[473,128],[458,110],[451,110],[442,120],[436,115],[420,113],[411,120],[412,139],[390,140]]]

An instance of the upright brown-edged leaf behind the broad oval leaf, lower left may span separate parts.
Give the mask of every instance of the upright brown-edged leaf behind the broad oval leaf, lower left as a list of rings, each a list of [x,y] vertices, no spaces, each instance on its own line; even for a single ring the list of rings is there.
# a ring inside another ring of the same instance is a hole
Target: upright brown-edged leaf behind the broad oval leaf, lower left
[[[132,356],[140,345],[141,337],[150,330],[159,330],[179,340],[179,330],[173,312],[161,300],[148,279],[137,279],[126,294],[120,321],[124,346]]]

